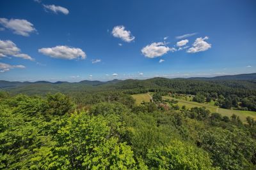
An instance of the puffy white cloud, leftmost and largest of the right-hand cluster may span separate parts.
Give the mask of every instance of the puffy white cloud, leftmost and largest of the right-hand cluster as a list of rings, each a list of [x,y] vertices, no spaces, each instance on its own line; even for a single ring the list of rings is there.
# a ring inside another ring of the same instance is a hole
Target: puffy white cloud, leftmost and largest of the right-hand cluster
[[[170,48],[168,46],[165,46],[165,43],[159,42],[159,43],[152,43],[150,45],[147,45],[141,49],[141,52],[143,55],[145,55],[148,58],[155,58],[160,57],[164,55],[165,53],[172,51],[174,52],[175,48]]]

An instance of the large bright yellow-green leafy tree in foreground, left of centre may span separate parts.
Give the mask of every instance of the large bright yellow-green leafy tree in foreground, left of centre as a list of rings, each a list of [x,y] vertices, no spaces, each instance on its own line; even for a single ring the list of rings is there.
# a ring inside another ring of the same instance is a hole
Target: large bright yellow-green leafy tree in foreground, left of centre
[[[43,169],[132,169],[130,146],[111,136],[102,116],[72,115],[56,134],[56,146]]]

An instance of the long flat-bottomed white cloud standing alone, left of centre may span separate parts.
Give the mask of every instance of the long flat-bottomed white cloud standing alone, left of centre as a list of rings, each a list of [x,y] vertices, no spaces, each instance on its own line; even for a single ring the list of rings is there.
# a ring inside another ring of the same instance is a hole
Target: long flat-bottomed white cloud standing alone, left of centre
[[[50,57],[56,59],[85,59],[86,54],[80,48],[72,48],[69,46],[55,46],[52,48],[40,48],[38,52],[44,55],[49,55]]]

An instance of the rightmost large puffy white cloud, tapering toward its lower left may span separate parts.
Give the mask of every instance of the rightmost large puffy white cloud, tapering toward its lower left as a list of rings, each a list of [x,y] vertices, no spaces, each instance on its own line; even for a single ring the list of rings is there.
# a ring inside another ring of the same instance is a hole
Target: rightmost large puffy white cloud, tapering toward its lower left
[[[196,38],[196,41],[193,43],[193,47],[189,48],[187,50],[188,53],[196,53],[196,52],[204,52],[205,50],[208,50],[211,48],[211,44],[207,43],[206,40],[208,39],[207,36],[205,38]]]

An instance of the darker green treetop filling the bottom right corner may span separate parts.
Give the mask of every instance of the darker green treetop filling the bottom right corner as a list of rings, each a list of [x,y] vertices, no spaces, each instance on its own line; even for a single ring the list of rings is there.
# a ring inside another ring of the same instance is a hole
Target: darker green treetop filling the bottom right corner
[[[200,134],[202,148],[210,153],[213,164],[221,169],[255,169],[256,143],[235,128],[233,132],[213,128]]]

